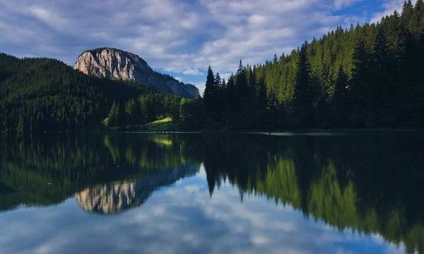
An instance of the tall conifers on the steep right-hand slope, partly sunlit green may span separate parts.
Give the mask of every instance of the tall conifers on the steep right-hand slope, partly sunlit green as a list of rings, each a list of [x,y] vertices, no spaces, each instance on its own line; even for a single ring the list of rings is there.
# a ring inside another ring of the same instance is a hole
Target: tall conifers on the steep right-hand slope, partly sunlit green
[[[264,64],[240,61],[227,82],[209,67],[204,127],[423,127],[423,96],[424,4],[406,1],[378,23],[338,27]]]

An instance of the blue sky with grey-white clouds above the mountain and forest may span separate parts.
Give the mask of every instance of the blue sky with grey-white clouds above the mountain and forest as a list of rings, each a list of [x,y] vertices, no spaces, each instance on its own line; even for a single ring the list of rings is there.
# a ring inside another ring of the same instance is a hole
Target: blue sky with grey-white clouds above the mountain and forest
[[[337,25],[379,21],[403,0],[0,0],[0,52],[73,65],[115,47],[204,89],[209,65],[227,78]]]

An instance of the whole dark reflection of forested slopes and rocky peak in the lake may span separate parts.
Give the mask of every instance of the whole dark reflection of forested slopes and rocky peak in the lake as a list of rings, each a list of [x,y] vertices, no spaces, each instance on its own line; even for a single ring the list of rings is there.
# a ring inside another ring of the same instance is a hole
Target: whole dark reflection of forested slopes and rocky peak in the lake
[[[403,243],[408,253],[424,253],[423,144],[418,132],[5,140],[0,209],[57,204],[75,195],[86,211],[117,214],[141,206],[155,190],[196,174],[203,164],[212,200],[230,183],[238,200],[266,197],[340,231],[378,233]]]

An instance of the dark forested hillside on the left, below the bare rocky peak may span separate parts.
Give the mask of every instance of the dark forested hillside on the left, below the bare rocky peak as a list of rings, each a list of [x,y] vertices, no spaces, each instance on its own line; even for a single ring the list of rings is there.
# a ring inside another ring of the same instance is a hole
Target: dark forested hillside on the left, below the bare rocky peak
[[[99,129],[113,104],[119,125],[179,110],[177,96],[141,83],[87,76],[56,59],[0,53],[0,132]]]

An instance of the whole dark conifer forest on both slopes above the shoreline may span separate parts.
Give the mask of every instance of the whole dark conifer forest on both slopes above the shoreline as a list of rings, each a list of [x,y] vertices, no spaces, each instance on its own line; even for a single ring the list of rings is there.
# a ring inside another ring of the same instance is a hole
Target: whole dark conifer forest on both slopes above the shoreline
[[[204,96],[97,79],[53,59],[0,54],[0,130],[102,129],[172,117],[180,129],[424,126],[424,2],[379,23],[342,27],[225,81]]]

